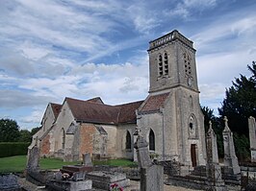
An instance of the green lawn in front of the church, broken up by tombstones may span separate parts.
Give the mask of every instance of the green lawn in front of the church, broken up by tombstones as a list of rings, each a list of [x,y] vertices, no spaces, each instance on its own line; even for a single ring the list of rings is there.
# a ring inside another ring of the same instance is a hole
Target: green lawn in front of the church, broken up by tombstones
[[[14,155],[0,158],[0,173],[20,173],[26,168],[26,155]],[[56,158],[41,158],[39,167],[42,170],[60,169],[68,164],[80,164],[81,162],[64,162]],[[110,159],[106,161],[93,161],[94,165],[111,165],[111,166],[136,166],[137,163],[128,159]]]

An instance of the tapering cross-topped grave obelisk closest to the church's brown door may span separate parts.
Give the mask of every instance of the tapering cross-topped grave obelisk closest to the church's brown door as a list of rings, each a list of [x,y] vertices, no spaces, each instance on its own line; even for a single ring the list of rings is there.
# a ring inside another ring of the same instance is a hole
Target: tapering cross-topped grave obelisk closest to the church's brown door
[[[206,174],[208,179],[208,189],[216,191],[225,191],[226,187],[221,178],[221,169],[218,164],[218,147],[216,133],[212,128],[212,122],[209,122],[209,131],[206,133],[207,146],[207,164]]]

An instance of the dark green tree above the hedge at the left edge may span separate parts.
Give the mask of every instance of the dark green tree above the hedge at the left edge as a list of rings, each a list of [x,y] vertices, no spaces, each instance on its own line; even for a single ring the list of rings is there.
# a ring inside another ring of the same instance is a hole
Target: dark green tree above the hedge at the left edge
[[[0,142],[14,142],[19,137],[19,127],[12,119],[0,120]]]

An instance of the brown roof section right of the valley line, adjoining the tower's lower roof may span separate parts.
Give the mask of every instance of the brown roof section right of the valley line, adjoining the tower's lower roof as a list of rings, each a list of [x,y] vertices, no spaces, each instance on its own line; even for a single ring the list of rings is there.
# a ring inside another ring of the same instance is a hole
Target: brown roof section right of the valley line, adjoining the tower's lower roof
[[[118,123],[136,123],[136,110],[141,107],[143,101],[133,102],[129,104],[118,105],[120,112],[118,116]]]

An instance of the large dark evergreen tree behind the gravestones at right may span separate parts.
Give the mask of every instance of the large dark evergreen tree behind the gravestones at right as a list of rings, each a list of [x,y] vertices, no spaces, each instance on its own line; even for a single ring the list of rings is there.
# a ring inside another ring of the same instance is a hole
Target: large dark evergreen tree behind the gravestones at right
[[[256,63],[247,65],[252,76],[246,78],[242,74],[226,89],[226,97],[218,108],[219,115],[227,116],[229,127],[238,133],[248,133],[248,117],[256,116]]]

